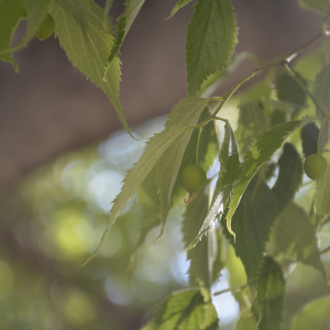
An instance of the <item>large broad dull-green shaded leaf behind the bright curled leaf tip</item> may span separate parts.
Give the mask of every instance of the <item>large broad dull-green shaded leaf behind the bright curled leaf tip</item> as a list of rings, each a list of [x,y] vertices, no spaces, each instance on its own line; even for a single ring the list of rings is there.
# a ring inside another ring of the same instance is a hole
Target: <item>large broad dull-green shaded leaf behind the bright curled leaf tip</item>
[[[242,260],[249,282],[254,282],[260,275],[265,245],[275,221],[274,208],[271,189],[255,178],[249,185],[232,218],[235,243],[227,230],[226,217],[221,219],[227,238],[233,243],[235,254]]]

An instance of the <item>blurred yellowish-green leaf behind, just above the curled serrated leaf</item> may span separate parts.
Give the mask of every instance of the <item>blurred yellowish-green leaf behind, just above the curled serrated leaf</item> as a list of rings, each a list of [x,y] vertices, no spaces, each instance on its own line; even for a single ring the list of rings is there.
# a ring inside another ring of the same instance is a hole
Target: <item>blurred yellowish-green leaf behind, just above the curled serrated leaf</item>
[[[241,153],[244,155],[252,138],[262,131],[267,130],[268,123],[261,106],[246,97],[243,97],[240,106],[239,128],[235,136]]]

